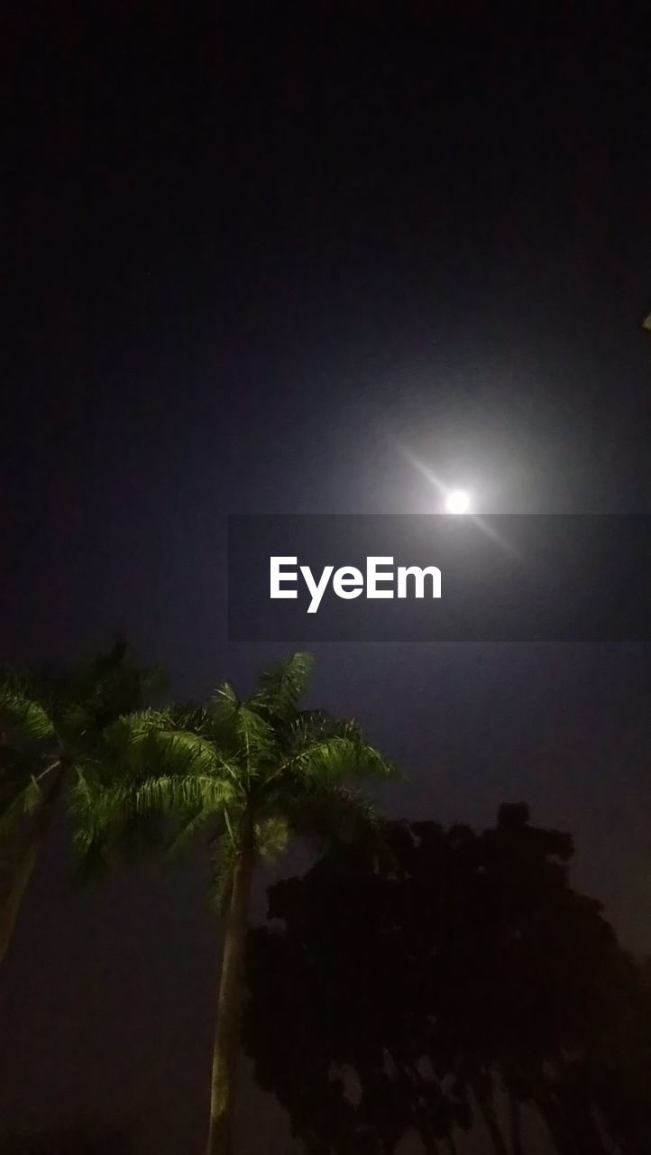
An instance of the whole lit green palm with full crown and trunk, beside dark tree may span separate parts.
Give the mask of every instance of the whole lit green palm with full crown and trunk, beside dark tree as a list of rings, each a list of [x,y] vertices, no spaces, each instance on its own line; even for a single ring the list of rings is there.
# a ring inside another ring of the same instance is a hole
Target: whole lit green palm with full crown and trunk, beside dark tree
[[[152,818],[166,818],[174,847],[207,837],[225,922],[208,1155],[231,1152],[255,864],[282,852],[294,834],[354,839],[373,829],[372,807],[346,782],[392,770],[354,722],[300,708],[310,668],[309,655],[293,654],[263,673],[248,699],[224,683],[205,707],[122,718],[105,736],[106,763],[121,766],[121,782],[103,781],[99,772],[75,790],[82,855],[113,857],[125,827]]]

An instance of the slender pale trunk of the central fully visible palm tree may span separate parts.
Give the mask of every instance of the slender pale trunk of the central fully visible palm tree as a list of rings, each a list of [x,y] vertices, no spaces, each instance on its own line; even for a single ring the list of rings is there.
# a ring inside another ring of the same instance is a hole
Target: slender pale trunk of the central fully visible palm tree
[[[207,1155],[231,1155],[231,1120],[235,1100],[248,900],[254,860],[253,845],[245,845],[233,873],[217,1000]]]

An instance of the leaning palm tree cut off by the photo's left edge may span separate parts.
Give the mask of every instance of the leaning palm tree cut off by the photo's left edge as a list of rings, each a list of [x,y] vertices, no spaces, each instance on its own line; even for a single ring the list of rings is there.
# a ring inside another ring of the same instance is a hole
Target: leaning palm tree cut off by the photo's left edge
[[[102,731],[151,683],[125,641],[72,672],[0,678],[0,962],[43,843],[70,781],[82,781]]]

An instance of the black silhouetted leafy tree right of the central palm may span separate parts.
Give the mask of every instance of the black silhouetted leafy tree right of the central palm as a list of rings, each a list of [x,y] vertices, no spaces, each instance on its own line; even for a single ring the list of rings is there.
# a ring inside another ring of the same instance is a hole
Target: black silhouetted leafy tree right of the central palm
[[[518,1155],[529,1103],[562,1155],[606,1134],[638,1155],[604,1066],[631,963],[569,886],[571,839],[518,805],[479,835],[398,822],[387,841],[390,863],[358,851],[271,887],[284,926],[250,933],[245,1044],[308,1150],[390,1153],[414,1130],[451,1152],[480,1115]]]

